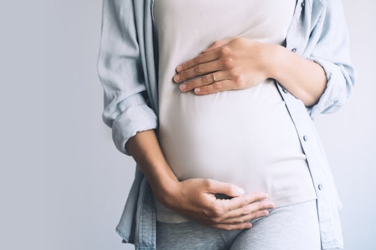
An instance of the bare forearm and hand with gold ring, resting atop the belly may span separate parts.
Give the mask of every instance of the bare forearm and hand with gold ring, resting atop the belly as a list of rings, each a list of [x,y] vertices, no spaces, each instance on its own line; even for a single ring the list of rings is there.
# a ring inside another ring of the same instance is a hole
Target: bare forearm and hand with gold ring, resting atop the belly
[[[214,42],[198,56],[178,65],[176,72],[173,81],[182,83],[180,91],[194,90],[195,94],[242,90],[274,78],[306,107],[318,102],[327,85],[327,76],[318,63],[279,44],[242,37]],[[201,77],[191,79],[196,76]]]

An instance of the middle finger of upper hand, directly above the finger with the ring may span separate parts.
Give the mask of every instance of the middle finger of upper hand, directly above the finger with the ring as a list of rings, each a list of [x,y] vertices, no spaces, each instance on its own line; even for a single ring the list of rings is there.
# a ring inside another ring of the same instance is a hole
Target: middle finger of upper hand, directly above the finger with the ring
[[[196,76],[201,76],[203,74],[207,74],[210,72],[215,72],[217,70],[223,69],[222,63],[220,60],[212,60],[207,63],[201,63],[191,67],[189,69],[185,69],[178,74],[173,76],[173,81],[175,83],[180,83],[182,81],[187,81],[190,78],[194,78]],[[178,78],[177,78],[178,77]]]

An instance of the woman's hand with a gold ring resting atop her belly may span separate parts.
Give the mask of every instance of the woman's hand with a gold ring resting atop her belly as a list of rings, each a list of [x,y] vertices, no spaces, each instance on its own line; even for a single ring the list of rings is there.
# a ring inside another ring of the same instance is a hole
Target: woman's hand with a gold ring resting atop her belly
[[[176,67],[178,74],[173,81],[185,81],[180,90],[194,89],[196,94],[251,88],[269,78],[268,65],[273,58],[270,45],[242,37],[218,40]]]

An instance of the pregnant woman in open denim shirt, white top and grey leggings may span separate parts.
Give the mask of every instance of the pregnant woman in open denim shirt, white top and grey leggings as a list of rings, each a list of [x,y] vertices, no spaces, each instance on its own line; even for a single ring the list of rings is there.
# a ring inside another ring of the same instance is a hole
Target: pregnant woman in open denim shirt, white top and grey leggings
[[[341,249],[312,118],[354,85],[340,1],[106,1],[104,122],[136,249]],[[325,188],[324,188],[325,187]]]

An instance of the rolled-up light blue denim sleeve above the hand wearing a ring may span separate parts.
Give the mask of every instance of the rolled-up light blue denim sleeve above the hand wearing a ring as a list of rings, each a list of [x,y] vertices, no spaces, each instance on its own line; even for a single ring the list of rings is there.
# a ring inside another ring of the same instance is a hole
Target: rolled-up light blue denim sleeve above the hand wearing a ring
[[[321,65],[327,76],[327,86],[320,99],[306,110],[315,117],[320,113],[334,113],[345,104],[352,94],[355,69],[350,60],[349,33],[341,0],[327,1],[315,28],[320,33],[317,44],[307,59]]]

